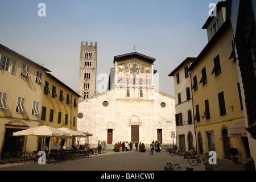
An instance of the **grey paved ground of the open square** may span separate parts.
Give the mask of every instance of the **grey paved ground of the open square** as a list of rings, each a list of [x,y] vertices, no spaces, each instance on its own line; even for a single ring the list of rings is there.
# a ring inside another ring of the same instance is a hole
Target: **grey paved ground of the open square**
[[[194,171],[205,171],[203,163],[191,166],[183,156],[171,156],[166,150],[150,155],[146,152],[127,151],[114,152],[105,150],[103,154],[79,160],[66,160],[64,163],[39,165],[32,164],[0,164],[0,171],[164,171],[167,163],[178,163],[180,171],[193,167]],[[230,160],[217,159],[218,171],[245,171],[245,164],[233,164]]]

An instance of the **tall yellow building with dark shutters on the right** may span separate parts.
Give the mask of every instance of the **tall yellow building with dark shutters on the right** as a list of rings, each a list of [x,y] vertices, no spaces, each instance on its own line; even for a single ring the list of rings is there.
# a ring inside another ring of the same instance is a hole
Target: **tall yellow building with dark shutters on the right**
[[[188,68],[192,79],[197,151],[216,151],[217,158],[230,159],[230,147],[239,151],[239,163],[248,158],[249,146],[241,102],[236,59],[232,57],[233,36],[226,20],[225,2],[217,4],[203,29],[208,44]],[[231,55],[231,56],[230,56]],[[240,124],[236,131],[233,126]]]

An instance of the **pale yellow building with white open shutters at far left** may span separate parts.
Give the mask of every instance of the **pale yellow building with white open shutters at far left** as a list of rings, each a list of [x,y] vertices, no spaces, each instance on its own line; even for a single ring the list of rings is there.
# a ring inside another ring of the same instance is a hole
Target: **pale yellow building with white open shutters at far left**
[[[35,151],[37,137],[13,137],[15,131],[39,126],[49,70],[0,44],[0,154]]]

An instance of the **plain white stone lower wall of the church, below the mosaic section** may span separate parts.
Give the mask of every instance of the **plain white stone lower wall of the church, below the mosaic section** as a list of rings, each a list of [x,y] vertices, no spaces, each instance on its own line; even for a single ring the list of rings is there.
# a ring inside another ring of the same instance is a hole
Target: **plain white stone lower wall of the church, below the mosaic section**
[[[107,101],[108,106],[103,102]],[[162,107],[164,102],[166,107]],[[139,142],[150,144],[158,140],[158,129],[162,130],[162,143],[172,144],[171,131],[175,131],[174,97],[154,91],[153,100],[115,99],[115,90],[97,94],[79,102],[77,130],[93,134],[90,144],[108,140],[108,129],[113,130],[113,144],[131,141],[131,126],[139,126]],[[80,139],[84,144],[85,139]]]

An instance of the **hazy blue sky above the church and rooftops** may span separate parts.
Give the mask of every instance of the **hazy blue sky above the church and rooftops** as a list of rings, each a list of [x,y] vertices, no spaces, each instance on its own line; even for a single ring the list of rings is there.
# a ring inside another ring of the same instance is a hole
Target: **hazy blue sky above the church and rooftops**
[[[0,0],[0,43],[43,64],[77,91],[80,42],[98,43],[97,74],[109,75],[116,55],[136,51],[154,57],[159,91],[174,95],[168,77],[207,44],[202,30],[213,0]],[[39,3],[46,17],[39,17]],[[98,81],[97,83],[99,83]]]

